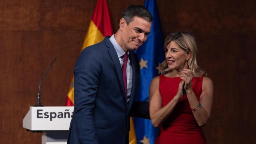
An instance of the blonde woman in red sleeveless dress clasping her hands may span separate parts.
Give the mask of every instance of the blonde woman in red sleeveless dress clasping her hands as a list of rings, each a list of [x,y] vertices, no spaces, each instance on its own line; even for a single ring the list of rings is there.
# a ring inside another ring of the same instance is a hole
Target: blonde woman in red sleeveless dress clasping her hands
[[[175,32],[164,42],[163,74],[150,84],[150,118],[160,133],[155,144],[206,144],[201,126],[210,117],[213,83],[196,62],[196,42]]]

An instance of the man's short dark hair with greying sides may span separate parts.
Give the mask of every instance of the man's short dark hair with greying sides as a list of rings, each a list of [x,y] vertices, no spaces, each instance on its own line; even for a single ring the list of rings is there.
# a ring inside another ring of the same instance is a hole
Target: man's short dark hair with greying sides
[[[124,12],[122,13],[121,18],[124,18],[126,20],[126,24],[128,25],[130,22],[132,22],[134,16],[143,18],[148,22],[152,22],[153,20],[150,12],[144,6],[139,4],[133,4],[128,6],[128,8],[126,8],[126,10],[124,10]]]

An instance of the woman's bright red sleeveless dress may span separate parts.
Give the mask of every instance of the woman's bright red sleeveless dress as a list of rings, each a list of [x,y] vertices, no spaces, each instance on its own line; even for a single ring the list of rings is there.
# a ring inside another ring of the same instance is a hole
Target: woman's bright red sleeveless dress
[[[178,92],[179,77],[168,78],[160,75],[159,91],[162,106],[172,100]],[[203,76],[192,79],[192,90],[199,100],[202,93]],[[202,129],[198,126],[185,94],[175,106],[170,116],[162,123],[155,144],[207,144]]]

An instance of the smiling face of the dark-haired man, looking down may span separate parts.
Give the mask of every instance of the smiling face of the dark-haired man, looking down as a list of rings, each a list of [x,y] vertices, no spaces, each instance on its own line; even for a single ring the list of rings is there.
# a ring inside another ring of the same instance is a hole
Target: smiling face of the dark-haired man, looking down
[[[122,23],[122,21],[124,23]],[[132,22],[128,25],[122,18],[120,24],[120,29],[122,30],[121,47],[125,52],[128,50],[136,50],[146,41],[148,34],[150,33],[151,22],[137,16],[134,16]]]

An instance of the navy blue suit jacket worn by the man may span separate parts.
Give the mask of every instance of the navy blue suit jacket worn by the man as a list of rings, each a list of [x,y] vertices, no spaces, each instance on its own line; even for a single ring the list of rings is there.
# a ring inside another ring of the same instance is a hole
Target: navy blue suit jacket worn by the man
[[[109,37],[85,48],[74,68],[74,113],[68,144],[128,144],[130,116],[149,118],[148,102],[135,102],[139,60],[129,52],[132,90],[126,102],[122,70]]]

